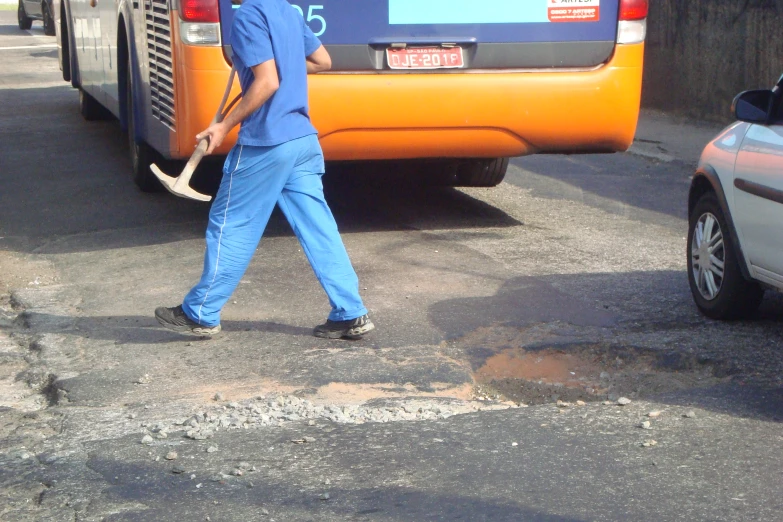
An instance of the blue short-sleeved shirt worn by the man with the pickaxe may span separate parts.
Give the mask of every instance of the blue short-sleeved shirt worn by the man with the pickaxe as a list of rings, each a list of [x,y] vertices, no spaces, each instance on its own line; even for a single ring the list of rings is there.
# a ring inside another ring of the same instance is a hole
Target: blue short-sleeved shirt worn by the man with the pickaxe
[[[245,0],[231,27],[234,66],[242,91],[253,83],[250,69],[275,60],[280,88],[239,129],[240,145],[270,147],[317,134],[310,123],[305,57],[321,42],[286,0]]]

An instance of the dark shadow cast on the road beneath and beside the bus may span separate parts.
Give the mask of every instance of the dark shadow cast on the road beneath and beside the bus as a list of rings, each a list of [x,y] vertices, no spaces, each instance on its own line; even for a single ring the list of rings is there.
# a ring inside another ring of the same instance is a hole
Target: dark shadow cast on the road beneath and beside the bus
[[[140,192],[119,123],[84,121],[77,91],[67,84],[0,90],[0,118],[6,122],[0,133],[15,136],[0,143],[0,249],[62,254],[204,237],[209,204]],[[17,146],[32,142],[32,154]],[[166,172],[181,166],[163,162]],[[214,192],[221,170],[222,158],[204,161],[194,188]],[[409,162],[329,164],[324,188],[343,232],[521,225],[463,192],[423,183],[426,178]],[[290,235],[275,211],[266,236]]]

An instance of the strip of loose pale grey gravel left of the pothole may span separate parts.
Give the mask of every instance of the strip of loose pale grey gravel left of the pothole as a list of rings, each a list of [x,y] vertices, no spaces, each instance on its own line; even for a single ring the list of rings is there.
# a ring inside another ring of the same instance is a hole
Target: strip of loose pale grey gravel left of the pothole
[[[443,401],[432,399],[405,399],[384,401],[382,405],[321,405],[293,395],[257,397],[255,399],[207,408],[174,424],[157,423],[142,427],[152,432],[152,437],[165,439],[170,432],[185,430],[191,439],[210,438],[216,431],[253,429],[266,426],[283,426],[290,422],[329,420],[340,424],[364,424],[367,422],[397,422],[446,419],[453,415],[480,410],[499,410],[512,407],[509,404],[480,401]]]

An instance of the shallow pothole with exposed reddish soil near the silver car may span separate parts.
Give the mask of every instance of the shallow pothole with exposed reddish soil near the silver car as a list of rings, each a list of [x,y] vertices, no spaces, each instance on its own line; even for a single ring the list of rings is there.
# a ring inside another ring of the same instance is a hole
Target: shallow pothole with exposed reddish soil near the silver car
[[[502,350],[486,359],[475,379],[481,398],[544,404],[648,398],[715,385],[731,373],[697,356],[594,344]]]

